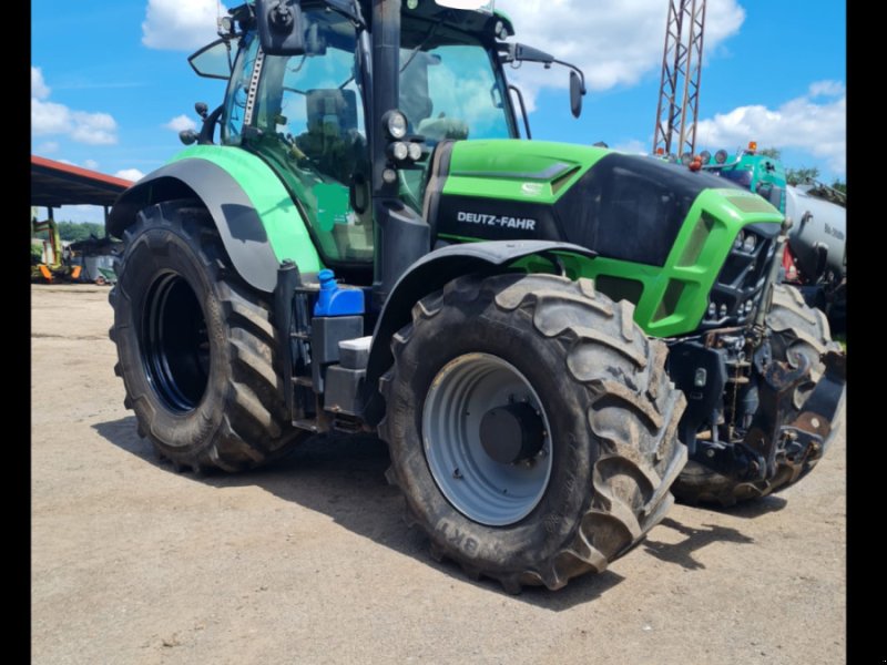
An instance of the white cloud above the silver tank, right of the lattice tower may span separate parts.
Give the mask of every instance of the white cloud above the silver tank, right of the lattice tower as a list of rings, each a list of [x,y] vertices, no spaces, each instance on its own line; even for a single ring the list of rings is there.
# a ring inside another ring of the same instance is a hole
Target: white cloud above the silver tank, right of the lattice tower
[[[816,101],[814,101],[816,100]],[[757,141],[781,150],[799,149],[827,162],[836,174],[847,171],[847,94],[836,81],[810,84],[806,95],[778,109],[740,106],[703,120],[697,129],[700,149],[727,151]]]

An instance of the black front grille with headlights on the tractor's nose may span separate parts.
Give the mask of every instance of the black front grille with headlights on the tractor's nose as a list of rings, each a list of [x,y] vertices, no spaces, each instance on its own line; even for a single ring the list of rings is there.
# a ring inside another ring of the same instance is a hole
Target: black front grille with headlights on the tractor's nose
[[[773,260],[778,231],[779,227],[775,224],[757,224],[743,228],[745,235],[755,236],[755,248],[752,252],[736,247],[731,249],[710,296],[710,303],[715,305],[715,316],[706,313],[701,328],[740,326],[754,315],[761,300],[767,267]],[[750,301],[751,309],[747,308]],[[726,310],[722,316],[724,306]]]

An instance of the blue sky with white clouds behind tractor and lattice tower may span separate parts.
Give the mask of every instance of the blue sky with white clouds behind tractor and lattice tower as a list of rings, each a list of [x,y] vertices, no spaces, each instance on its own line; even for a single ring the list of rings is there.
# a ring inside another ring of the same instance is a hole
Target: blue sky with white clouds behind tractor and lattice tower
[[[430,0],[421,0],[428,2]],[[578,64],[589,92],[570,114],[568,70],[508,70],[533,139],[652,150],[670,0],[498,0],[522,43]],[[227,0],[32,0],[31,152],[137,180],[182,150],[194,102],[224,82],[187,55],[215,39]],[[708,0],[696,150],[756,141],[787,166],[846,174],[846,2]],[[101,221],[69,206],[58,218]]]

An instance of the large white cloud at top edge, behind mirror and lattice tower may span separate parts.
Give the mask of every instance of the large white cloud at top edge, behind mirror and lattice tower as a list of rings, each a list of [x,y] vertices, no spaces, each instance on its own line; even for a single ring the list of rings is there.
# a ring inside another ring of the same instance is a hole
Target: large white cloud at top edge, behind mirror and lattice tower
[[[499,0],[514,22],[517,40],[571,62],[585,73],[589,91],[633,85],[662,65],[667,2],[663,0]],[[745,11],[737,0],[710,2],[705,17],[705,51],[715,52],[735,34]],[[567,70],[524,63],[509,70],[531,99],[541,88],[567,88]]]

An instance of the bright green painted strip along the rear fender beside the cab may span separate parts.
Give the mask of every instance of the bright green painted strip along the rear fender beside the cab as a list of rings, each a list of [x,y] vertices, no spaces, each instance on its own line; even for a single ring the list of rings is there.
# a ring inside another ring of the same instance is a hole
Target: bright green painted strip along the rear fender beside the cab
[[[302,273],[323,269],[305,221],[286,187],[265,162],[239,147],[218,145],[193,145],[170,162],[179,160],[205,160],[234,178],[258,213],[278,262],[292,259]]]

